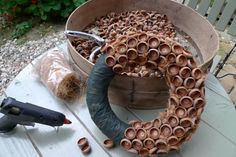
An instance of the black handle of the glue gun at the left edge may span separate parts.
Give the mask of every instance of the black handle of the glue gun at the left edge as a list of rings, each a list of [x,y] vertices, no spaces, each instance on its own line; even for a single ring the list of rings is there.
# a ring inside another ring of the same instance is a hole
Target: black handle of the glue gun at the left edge
[[[11,118],[7,115],[4,115],[0,118],[0,133],[6,133],[11,131],[16,127],[17,123],[14,122]]]

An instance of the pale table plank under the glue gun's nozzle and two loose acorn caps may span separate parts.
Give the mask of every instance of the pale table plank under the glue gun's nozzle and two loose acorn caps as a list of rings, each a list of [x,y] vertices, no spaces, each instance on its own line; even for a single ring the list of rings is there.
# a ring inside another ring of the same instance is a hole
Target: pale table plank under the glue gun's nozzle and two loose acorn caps
[[[8,87],[7,94],[19,101],[62,112],[73,122],[71,125],[62,126],[58,133],[54,128],[40,124],[35,128],[27,127],[29,136],[42,156],[83,156],[77,146],[77,140],[84,136],[88,138],[93,149],[88,156],[109,156],[67,107],[57,101],[37,78],[32,76],[31,70],[32,66],[27,66]]]

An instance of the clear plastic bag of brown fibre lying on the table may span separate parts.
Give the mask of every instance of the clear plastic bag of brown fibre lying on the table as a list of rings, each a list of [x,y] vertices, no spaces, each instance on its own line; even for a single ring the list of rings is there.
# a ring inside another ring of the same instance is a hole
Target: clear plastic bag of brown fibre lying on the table
[[[83,93],[84,83],[58,48],[46,52],[33,66],[40,81],[59,99],[71,102]]]

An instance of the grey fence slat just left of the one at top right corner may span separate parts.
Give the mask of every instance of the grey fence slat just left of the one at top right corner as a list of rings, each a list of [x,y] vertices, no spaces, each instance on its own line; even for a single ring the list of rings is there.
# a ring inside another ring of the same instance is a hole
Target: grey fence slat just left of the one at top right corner
[[[207,20],[210,21],[211,24],[214,24],[216,22],[216,19],[225,3],[225,0],[215,0],[210,13],[207,16]]]

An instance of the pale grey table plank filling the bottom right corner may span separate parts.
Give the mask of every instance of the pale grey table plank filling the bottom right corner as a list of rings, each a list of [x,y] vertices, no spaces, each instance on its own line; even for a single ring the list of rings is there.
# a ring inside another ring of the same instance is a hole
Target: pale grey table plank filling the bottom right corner
[[[236,146],[201,123],[192,139],[183,145],[180,154],[183,157],[235,157]]]

